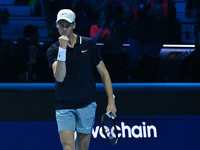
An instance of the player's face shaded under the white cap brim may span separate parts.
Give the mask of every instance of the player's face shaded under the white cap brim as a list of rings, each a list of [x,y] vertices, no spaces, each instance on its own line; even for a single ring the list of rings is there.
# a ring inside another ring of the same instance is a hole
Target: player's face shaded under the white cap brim
[[[75,23],[69,23],[65,20],[58,21],[56,26],[60,35],[65,35],[67,37],[70,37],[73,33],[73,29],[75,29]]]

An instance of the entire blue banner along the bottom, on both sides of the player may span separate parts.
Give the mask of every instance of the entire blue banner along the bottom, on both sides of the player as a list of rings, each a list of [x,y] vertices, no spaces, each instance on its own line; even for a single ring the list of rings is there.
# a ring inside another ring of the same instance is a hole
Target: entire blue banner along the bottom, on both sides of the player
[[[90,150],[199,150],[200,116],[119,116],[111,145],[97,117]],[[31,145],[31,146],[30,146]],[[62,150],[55,121],[1,121],[0,149]]]

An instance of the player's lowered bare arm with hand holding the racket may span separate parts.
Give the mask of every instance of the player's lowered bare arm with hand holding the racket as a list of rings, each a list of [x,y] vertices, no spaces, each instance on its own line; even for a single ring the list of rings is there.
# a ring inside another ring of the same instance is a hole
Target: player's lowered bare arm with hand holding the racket
[[[115,106],[115,100],[113,98],[113,89],[112,89],[112,83],[110,79],[110,75],[105,67],[105,64],[103,61],[100,61],[100,63],[97,65],[97,70],[101,76],[102,82],[104,84],[106,94],[108,97],[108,106],[107,106],[107,112],[112,112],[114,117],[116,117],[116,106]]]

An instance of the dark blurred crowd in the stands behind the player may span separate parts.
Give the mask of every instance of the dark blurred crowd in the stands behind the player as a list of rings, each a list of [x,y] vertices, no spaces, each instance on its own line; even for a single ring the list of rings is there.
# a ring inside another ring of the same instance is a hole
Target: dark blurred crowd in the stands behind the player
[[[29,5],[31,15],[44,16],[51,41],[40,41],[34,25],[25,26],[17,41],[1,38],[11,27],[8,10],[0,9],[1,82],[54,80],[46,50],[59,37],[55,20],[62,8],[76,13],[75,33],[97,43],[114,81],[142,80],[141,60],[156,60],[163,43],[181,42],[173,0],[15,0],[14,5]]]

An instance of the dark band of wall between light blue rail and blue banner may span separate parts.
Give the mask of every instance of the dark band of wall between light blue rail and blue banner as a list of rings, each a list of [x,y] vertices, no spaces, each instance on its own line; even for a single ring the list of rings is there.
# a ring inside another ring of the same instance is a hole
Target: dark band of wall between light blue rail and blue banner
[[[118,115],[200,115],[199,92],[115,92]],[[54,121],[53,91],[1,91],[0,121]],[[97,92],[97,116],[106,111]]]

